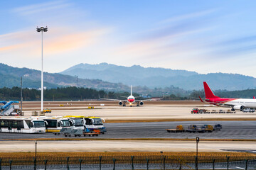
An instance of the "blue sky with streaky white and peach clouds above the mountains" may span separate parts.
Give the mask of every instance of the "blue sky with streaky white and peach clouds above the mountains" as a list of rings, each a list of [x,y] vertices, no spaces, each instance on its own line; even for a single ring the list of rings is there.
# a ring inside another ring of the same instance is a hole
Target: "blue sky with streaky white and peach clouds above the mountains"
[[[256,77],[256,1],[0,1],[0,60],[62,72],[75,64]],[[136,73],[134,73],[136,74]]]

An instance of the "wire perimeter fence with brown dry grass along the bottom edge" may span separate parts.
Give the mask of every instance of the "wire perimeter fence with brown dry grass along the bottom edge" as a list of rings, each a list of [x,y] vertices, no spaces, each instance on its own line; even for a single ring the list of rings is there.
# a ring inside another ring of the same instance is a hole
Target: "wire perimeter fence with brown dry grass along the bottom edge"
[[[256,169],[254,154],[242,156],[204,155],[114,155],[72,156],[39,155],[37,157],[0,157],[2,169]]]

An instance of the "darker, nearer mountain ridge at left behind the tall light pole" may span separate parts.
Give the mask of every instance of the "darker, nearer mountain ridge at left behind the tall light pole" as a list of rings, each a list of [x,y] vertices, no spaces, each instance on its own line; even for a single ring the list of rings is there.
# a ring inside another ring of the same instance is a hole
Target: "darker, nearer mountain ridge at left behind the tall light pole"
[[[41,71],[28,68],[11,67],[0,63],[0,87],[20,86],[20,77],[23,77],[23,87],[40,88],[41,87]],[[43,73],[44,86],[46,88],[57,88],[61,86],[76,86],[77,78],[74,76],[58,74],[58,73]],[[129,89],[123,84],[110,83],[100,79],[78,79],[79,87],[87,87],[94,89],[105,89],[116,91],[116,89]]]

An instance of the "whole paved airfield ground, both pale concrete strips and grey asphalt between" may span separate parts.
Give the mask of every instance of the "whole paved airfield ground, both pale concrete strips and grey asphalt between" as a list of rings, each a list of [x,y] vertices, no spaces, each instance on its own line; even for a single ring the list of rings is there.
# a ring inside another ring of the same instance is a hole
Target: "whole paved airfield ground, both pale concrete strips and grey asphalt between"
[[[118,104],[118,103],[117,103]],[[58,106],[56,106],[58,107]],[[30,108],[33,108],[31,106]],[[219,139],[256,139],[256,121],[243,121],[242,119],[255,119],[256,113],[210,113],[191,114],[192,108],[205,108],[208,110],[228,110],[230,108],[207,107],[198,103],[189,105],[164,103],[159,105],[149,104],[141,107],[122,106],[95,106],[95,109],[85,109],[87,106],[72,106],[61,110],[52,109],[52,113],[46,115],[93,115],[105,120],[175,120],[184,119],[185,122],[152,122],[152,123],[105,123],[107,133],[98,138],[105,140],[87,141],[38,141],[38,152],[194,152],[196,142],[194,141],[154,141],[139,140],[132,141],[129,138],[219,138]],[[25,111],[26,116],[31,116],[31,111]],[[203,118],[237,118],[240,121],[202,122],[189,121]],[[176,125],[190,124],[223,124],[220,132],[203,134],[171,134],[166,128],[175,128]],[[35,143],[33,141],[4,141],[4,139],[28,139],[28,138],[54,138],[52,134],[36,135],[31,134],[0,134],[1,152],[33,152]],[[92,137],[97,138],[97,137]],[[128,140],[107,140],[109,138],[126,138]],[[90,139],[90,138],[89,138]],[[250,150],[256,152],[256,142],[233,142],[233,141],[201,141],[199,149],[201,152],[223,152],[223,150]]]

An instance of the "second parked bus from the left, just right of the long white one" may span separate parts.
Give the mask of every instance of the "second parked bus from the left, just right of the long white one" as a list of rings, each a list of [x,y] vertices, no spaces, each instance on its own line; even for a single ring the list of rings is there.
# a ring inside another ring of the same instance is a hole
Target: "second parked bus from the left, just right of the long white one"
[[[71,130],[70,122],[67,118],[63,118],[61,116],[39,116],[37,118],[45,121],[46,132],[60,132],[60,130],[62,130],[63,128]]]

